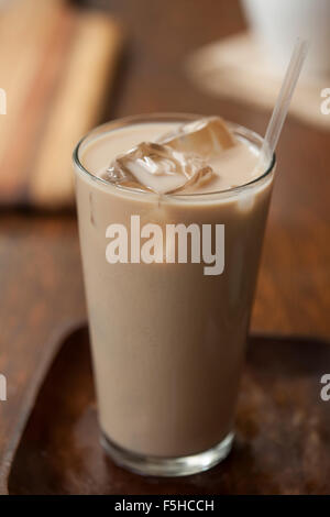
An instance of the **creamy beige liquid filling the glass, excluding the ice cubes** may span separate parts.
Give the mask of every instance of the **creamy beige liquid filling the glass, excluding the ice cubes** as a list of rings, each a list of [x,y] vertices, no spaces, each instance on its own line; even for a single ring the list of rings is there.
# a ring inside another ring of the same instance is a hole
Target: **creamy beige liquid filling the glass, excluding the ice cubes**
[[[94,175],[141,141],[177,127],[150,122],[110,131],[80,151]],[[253,179],[256,147],[241,142],[213,168],[212,191]],[[228,195],[160,198],[77,170],[80,245],[100,424],[111,442],[155,457],[212,448],[232,431],[272,174]],[[208,186],[205,186],[209,191]],[[224,224],[226,266],[106,261],[106,229],[152,222]]]

